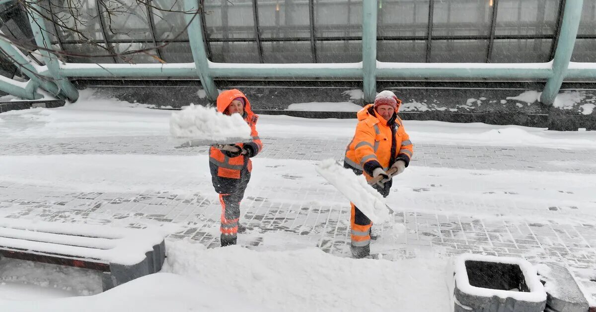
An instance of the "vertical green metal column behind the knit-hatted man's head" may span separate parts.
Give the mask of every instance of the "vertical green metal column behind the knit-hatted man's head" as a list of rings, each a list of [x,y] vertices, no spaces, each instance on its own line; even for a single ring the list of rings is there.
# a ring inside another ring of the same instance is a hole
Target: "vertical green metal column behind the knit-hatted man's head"
[[[377,96],[377,0],[362,1],[362,87],[364,102]]]

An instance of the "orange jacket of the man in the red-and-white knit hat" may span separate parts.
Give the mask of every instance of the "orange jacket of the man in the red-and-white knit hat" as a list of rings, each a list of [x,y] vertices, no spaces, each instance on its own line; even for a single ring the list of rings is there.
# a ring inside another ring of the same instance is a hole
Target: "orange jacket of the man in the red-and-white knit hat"
[[[358,125],[350,144],[346,147],[345,162],[352,168],[364,171],[371,179],[375,168],[387,171],[393,162],[403,160],[406,166],[412,158],[413,145],[403,128],[402,119],[395,115],[395,155],[391,157],[392,131],[387,121],[377,114],[374,105],[369,104],[358,114]]]

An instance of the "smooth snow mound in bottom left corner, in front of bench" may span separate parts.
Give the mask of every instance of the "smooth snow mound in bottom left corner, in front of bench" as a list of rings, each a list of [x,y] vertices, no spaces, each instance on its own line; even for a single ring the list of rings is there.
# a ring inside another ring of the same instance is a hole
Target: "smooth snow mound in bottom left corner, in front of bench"
[[[242,294],[171,273],[143,276],[88,297],[0,300],[0,306],[3,311],[11,312],[269,311]]]

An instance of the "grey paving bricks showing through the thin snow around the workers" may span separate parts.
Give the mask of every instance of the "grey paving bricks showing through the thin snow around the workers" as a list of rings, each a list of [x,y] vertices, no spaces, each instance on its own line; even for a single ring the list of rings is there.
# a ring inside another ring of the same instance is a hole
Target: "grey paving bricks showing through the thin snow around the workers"
[[[258,157],[269,159],[322,160],[343,157],[344,140],[309,138],[263,138],[266,149]],[[0,155],[198,155],[206,148],[174,149],[166,137],[93,137],[8,139],[0,142]],[[544,149],[536,147],[444,146],[416,144],[412,166],[461,169],[515,169],[519,171],[561,171],[596,174],[589,150]],[[553,165],[552,160],[564,163]],[[349,206],[338,192],[309,185],[280,189],[285,179],[274,177],[269,184],[247,192],[241,222],[249,231],[240,244],[249,248],[318,247],[348,256]],[[209,189],[210,181],[197,181],[198,188]],[[271,194],[283,191],[286,200],[272,200]],[[306,201],[304,198],[311,198]],[[407,199],[407,198],[406,198]],[[450,198],[435,198],[449,201]],[[415,201],[415,198],[409,198]],[[485,204],[485,203],[483,203]],[[495,207],[507,203],[491,203]],[[457,203],[451,203],[457,207]],[[556,213],[557,207],[552,207]],[[10,218],[38,216],[45,220],[113,223],[143,226],[143,220],[176,222],[184,230],[171,238],[189,238],[210,247],[219,245],[219,202],[200,193],[65,193],[52,187],[5,182],[0,177],[0,212]],[[561,213],[560,216],[564,216]],[[421,213],[400,210],[395,216],[407,229],[406,238],[392,240],[389,225],[373,243],[373,252],[384,259],[416,257],[430,252],[457,254],[486,253],[498,256],[523,256],[533,261],[564,261],[582,269],[596,266],[596,220],[570,225],[523,220],[477,219],[462,215]],[[405,243],[405,244],[404,244]]]

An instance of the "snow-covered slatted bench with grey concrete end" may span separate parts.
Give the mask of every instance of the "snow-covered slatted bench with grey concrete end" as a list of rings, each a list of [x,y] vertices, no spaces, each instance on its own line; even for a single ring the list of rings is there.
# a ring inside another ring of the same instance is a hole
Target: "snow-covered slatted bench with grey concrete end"
[[[159,272],[163,233],[72,223],[0,219],[0,256],[103,272],[104,291]]]

